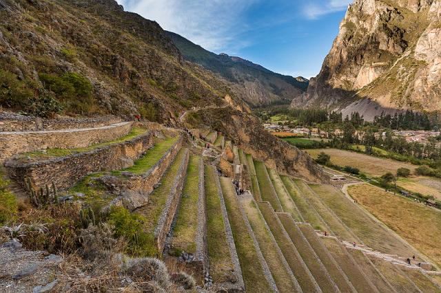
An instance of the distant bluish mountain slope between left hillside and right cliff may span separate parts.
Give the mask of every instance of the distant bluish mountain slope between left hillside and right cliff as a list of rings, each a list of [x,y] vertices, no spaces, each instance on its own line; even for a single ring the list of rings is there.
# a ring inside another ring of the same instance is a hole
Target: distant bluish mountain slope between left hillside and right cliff
[[[269,105],[296,98],[308,86],[305,78],[294,78],[271,72],[243,58],[216,55],[173,32],[167,32],[185,60],[202,65],[205,69],[225,78],[235,94],[252,106]]]

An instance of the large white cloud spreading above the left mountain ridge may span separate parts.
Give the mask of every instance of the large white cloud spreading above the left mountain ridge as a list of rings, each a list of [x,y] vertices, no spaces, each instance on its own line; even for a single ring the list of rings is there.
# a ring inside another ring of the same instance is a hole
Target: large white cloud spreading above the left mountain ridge
[[[247,31],[245,11],[259,0],[118,0],[125,10],[158,22],[164,30],[176,32],[215,52],[229,52],[248,45],[236,42]]]

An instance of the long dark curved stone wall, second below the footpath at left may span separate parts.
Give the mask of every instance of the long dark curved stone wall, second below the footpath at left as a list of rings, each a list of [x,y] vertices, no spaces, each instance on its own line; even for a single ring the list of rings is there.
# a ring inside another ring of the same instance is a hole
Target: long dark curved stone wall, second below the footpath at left
[[[22,186],[29,177],[34,186],[54,184],[69,188],[79,179],[98,171],[118,170],[130,166],[147,149],[154,146],[154,132],[148,131],[132,140],[103,146],[93,151],[76,153],[61,158],[22,163],[14,158],[5,162],[8,175]]]

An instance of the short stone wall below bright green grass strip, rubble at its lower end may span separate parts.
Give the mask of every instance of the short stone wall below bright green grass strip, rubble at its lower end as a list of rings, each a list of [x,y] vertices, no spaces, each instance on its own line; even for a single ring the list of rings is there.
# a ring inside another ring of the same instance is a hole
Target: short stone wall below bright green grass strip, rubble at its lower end
[[[180,136],[170,149],[168,149],[152,168],[143,175],[130,175],[127,180],[121,182],[121,190],[123,191],[137,191],[145,196],[150,195],[154,190],[154,186],[161,180],[165,171],[176,158],[179,150],[183,146],[184,138]]]

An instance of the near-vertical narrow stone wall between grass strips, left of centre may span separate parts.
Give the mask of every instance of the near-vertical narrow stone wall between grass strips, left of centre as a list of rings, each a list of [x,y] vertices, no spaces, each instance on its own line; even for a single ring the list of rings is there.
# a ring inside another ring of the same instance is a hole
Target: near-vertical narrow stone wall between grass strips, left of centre
[[[208,269],[208,246],[207,246],[207,211],[205,210],[205,177],[204,160],[199,164],[198,182],[198,227],[196,230],[196,253],[195,260],[202,263],[203,272]]]

